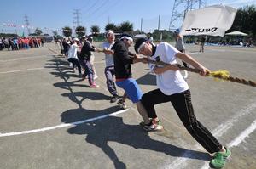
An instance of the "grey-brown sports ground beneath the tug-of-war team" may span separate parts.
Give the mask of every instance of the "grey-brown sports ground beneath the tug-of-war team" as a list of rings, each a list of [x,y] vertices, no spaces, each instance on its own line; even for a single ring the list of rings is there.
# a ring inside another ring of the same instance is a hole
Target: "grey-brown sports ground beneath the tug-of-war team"
[[[96,43],[96,46],[99,46]],[[145,132],[136,106],[110,103],[104,55],[95,53],[97,88],[90,88],[60,48],[0,51],[0,168],[205,169],[210,156],[178,119],[171,103],[156,105],[163,132]],[[131,48],[131,50],[133,50]],[[186,45],[210,70],[256,82],[256,48]],[[147,65],[132,65],[147,93],[156,88]],[[225,169],[256,168],[256,87],[189,73],[197,119],[230,147]],[[119,93],[123,93],[119,89]]]

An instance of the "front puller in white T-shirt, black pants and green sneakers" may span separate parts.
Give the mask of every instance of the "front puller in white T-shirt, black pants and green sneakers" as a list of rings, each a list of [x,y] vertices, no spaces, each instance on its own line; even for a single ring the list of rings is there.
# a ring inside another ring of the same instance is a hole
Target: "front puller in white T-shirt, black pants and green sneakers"
[[[139,54],[148,56],[150,59],[162,61],[170,65],[149,64],[150,70],[156,74],[158,89],[143,94],[142,103],[148,112],[148,117],[152,122],[144,124],[143,129],[154,131],[160,125],[159,119],[154,110],[155,104],[171,102],[177,112],[184,127],[188,130],[195,140],[204,147],[210,154],[215,153],[211,165],[221,168],[225,164],[227,157],[231,155],[230,150],[219,144],[217,138],[214,138],[211,132],[204,127],[195,117],[191,95],[187,82],[183,79],[177,64],[177,58],[185,61],[189,65],[200,70],[201,76],[206,76],[210,71],[188,54],[179,52],[176,48],[167,42],[160,42],[154,45],[146,39],[138,39],[135,51]]]

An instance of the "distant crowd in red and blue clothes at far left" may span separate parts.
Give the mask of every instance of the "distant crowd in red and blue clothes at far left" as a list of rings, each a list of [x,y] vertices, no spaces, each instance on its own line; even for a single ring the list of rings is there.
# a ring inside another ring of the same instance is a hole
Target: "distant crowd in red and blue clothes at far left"
[[[37,37],[0,37],[0,50],[20,50],[44,46],[44,40]]]

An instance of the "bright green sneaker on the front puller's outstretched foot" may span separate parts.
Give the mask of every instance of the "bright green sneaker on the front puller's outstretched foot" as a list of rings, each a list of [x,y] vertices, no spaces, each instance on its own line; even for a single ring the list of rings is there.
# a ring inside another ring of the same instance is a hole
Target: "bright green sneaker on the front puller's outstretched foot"
[[[226,149],[225,153],[222,152],[218,152],[214,155],[212,161],[210,162],[210,166],[214,167],[214,168],[222,168],[224,167],[227,159],[230,157],[231,155],[231,151],[230,149]]]

